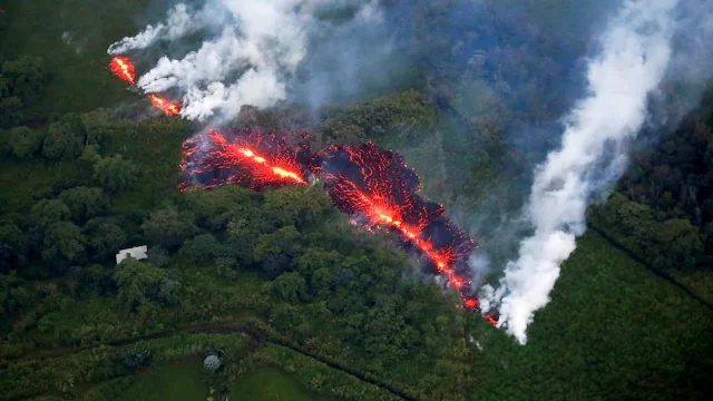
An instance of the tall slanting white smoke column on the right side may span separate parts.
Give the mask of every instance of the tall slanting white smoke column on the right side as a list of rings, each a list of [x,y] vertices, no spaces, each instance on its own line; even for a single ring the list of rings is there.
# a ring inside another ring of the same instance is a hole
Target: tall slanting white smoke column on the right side
[[[535,233],[520,243],[500,287],[486,287],[484,310],[499,303],[500,325],[521,344],[535,311],[549,302],[560,264],[586,229],[589,200],[623,173],[626,143],[646,118],[646,100],[666,72],[677,0],[629,0],[599,38],[588,65],[589,95],[566,119],[559,149],[537,168],[527,218]]]

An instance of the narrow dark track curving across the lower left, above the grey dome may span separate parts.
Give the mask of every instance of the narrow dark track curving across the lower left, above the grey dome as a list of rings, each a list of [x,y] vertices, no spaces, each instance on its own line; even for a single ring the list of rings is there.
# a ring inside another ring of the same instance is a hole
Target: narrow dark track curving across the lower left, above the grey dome
[[[12,359],[12,360],[7,360],[7,362],[12,362],[12,361],[17,361],[17,360],[21,360],[21,359],[47,359],[47,358],[60,358],[60,356],[66,356],[66,355],[70,355],[74,353],[78,353],[81,351],[87,351],[97,346],[101,346],[101,345],[109,345],[109,346],[125,346],[125,345],[131,345],[135,343],[138,343],[140,341],[148,341],[148,340],[156,340],[156,339],[162,339],[162,338],[167,338],[167,336],[172,336],[172,335],[178,335],[178,334],[236,334],[236,333],[241,333],[246,335],[248,339],[251,339],[253,342],[257,343],[257,344],[262,344],[262,343],[266,343],[266,344],[273,344],[273,345],[279,345],[279,346],[283,346],[286,348],[293,352],[296,352],[299,354],[302,354],[304,356],[311,358],[315,361],[319,361],[321,363],[324,363],[325,365],[330,366],[331,369],[338,370],[344,374],[349,374],[360,381],[363,381],[365,383],[372,384],[378,387],[381,390],[384,390],[389,393],[391,393],[392,395],[395,395],[402,400],[407,400],[407,401],[418,401],[416,398],[409,395],[406,393],[406,391],[385,383],[381,380],[379,380],[378,378],[371,375],[371,374],[365,374],[363,372],[360,372],[356,369],[353,369],[351,366],[346,366],[343,365],[336,361],[333,361],[331,359],[324,358],[322,355],[319,355],[314,352],[310,352],[306,350],[301,349],[299,345],[296,344],[292,344],[287,341],[283,341],[280,339],[270,339],[266,335],[264,335],[264,333],[261,333],[260,331],[256,331],[247,325],[228,325],[228,324],[211,324],[211,323],[206,323],[206,324],[194,324],[194,325],[189,325],[189,326],[184,326],[174,331],[162,331],[158,333],[153,333],[153,334],[148,334],[148,335],[141,335],[138,338],[133,338],[133,339],[124,339],[124,340],[115,340],[115,341],[108,341],[108,342],[104,342],[104,343],[98,343],[98,344],[92,344],[92,345],[86,345],[86,346],[77,346],[77,348],[57,348],[57,349],[43,349],[43,350],[37,350],[33,351],[31,353],[21,355],[19,358]],[[35,398],[30,397],[30,398]],[[19,401],[19,400],[23,400],[23,399],[28,399],[28,398],[16,398],[16,399],[10,399],[10,401]]]

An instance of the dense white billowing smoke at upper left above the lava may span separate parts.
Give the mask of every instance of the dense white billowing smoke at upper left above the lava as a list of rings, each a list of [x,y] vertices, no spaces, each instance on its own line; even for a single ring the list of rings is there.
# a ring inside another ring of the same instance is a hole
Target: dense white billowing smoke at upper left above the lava
[[[147,92],[182,92],[182,116],[188,119],[231,118],[243,105],[268,107],[285,99],[310,39],[330,27],[318,14],[345,7],[356,10],[350,23],[380,21],[375,0],[211,0],[193,12],[178,4],[167,22],[148,26],[108,51],[125,53],[217,28],[218,35],[183,58],[160,58],[137,85]]]

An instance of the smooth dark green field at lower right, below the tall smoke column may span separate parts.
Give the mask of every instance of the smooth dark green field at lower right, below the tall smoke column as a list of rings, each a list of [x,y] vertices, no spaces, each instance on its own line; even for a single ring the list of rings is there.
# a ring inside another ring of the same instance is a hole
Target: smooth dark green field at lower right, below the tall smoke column
[[[490,327],[473,334],[482,348],[475,399],[685,399],[706,383],[713,313],[599,235],[578,239],[551,297],[526,346]]]

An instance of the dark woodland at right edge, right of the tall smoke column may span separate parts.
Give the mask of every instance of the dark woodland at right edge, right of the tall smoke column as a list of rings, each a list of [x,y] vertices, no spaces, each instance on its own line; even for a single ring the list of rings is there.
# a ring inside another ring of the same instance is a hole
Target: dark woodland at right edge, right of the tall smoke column
[[[713,266],[713,91],[671,131],[645,131],[617,192],[592,212],[653,266]]]

